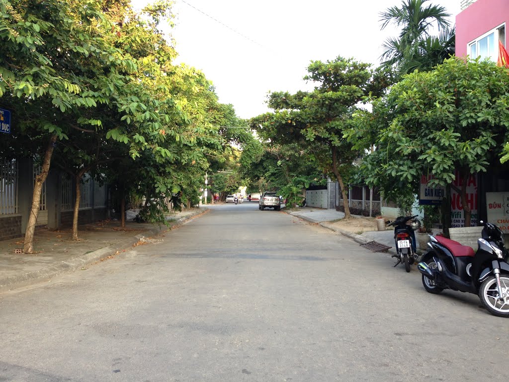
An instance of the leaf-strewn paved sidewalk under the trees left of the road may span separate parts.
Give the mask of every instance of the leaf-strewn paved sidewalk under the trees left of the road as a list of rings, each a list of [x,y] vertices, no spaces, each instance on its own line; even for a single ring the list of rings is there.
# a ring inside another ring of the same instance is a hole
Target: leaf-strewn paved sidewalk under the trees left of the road
[[[71,229],[38,228],[34,254],[23,254],[23,238],[0,241],[0,292],[51,280],[56,275],[81,269],[89,264],[122,253],[150,241],[150,237],[176,228],[192,217],[208,211],[193,208],[168,216],[169,227],[149,223],[104,221],[79,226],[78,241],[70,240]]]

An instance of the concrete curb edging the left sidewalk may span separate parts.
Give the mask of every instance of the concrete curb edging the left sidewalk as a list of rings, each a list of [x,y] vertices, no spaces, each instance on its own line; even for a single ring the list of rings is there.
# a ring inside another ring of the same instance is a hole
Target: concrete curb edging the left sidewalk
[[[144,237],[155,236],[160,234],[161,232],[166,232],[167,230],[178,228],[186,221],[191,220],[193,217],[201,215],[202,213],[206,213],[208,211],[210,210],[207,208],[204,209],[203,211],[193,212],[189,215],[181,217],[169,227],[166,226],[154,227],[151,230],[145,231],[144,233],[140,233],[136,236],[133,236],[129,239],[125,239],[118,243],[109,245],[108,247],[104,247],[83,255],[71,257],[66,261],[62,261],[62,263],[60,264],[51,265],[46,268],[35,270],[33,272],[29,272],[23,275],[0,278],[0,293],[8,292],[16,288],[37,284],[44,280],[52,279],[55,276],[75,271],[83,266],[90,265],[96,261],[100,261],[101,259],[114,255],[117,251],[130,248],[132,247],[133,244],[137,243]]]

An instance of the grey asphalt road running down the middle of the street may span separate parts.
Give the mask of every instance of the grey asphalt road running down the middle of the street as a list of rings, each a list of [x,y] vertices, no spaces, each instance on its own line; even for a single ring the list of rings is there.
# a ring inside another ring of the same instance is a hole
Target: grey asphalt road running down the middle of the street
[[[257,203],[0,295],[0,381],[505,381],[509,320]]]

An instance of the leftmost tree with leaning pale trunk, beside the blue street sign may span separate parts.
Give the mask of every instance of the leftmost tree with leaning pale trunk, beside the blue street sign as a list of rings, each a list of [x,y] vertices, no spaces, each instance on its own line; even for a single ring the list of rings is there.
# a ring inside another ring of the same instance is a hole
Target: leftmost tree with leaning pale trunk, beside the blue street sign
[[[119,71],[129,72],[135,64],[103,38],[110,26],[99,2],[41,6],[0,0],[0,13],[0,102],[13,110],[17,122],[8,145],[16,146],[16,137],[25,134],[43,148],[38,150],[42,173],[36,177],[23,245],[31,253],[42,183],[56,141],[83,125],[99,127],[97,119],[83,119],[81,112],[121,92]]]

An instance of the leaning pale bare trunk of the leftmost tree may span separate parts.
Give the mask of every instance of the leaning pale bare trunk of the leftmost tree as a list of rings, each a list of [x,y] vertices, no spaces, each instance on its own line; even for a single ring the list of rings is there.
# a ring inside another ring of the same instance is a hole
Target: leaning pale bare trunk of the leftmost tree
[[[56,135],[51,135],[48,146],[46,147],[46,153],[44,154],[41,174],[37,175],[35,178],[34,193],[32,195],[32,206],[30,208],[29,221],[26,224],[25,238],[23,242],[24,253],[34,252],[34,233],[35,226],[37,225],[37,215],[39,214],[39,209],[41,208],[42,184],[48,177],[49,165],[51,162],[51,155],[53,154],[53,147],[55,142]]]

